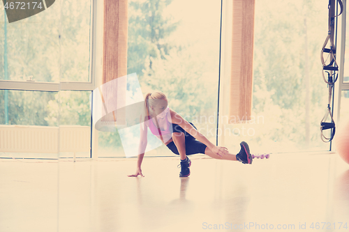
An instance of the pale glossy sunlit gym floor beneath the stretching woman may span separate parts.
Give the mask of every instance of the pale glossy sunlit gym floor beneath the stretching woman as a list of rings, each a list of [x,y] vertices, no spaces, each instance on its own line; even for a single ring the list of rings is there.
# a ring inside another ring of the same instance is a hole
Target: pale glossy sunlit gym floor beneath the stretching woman
[[[144,178],[126,176],[135,158],[0,159],[0,231],[349,229],[349,164],[334,153],[191,159],[189,178],[175,157],[144,158]]]

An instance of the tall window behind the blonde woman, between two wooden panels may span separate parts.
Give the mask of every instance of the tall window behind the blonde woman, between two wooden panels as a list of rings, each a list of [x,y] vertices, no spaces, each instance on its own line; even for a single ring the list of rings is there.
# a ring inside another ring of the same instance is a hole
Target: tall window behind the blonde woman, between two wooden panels
[[[128,75],[215,143],[221,1],[128,1]],[[128,86],[129,87],[129,86]],[[150,132],[148,132],[150,133]],[[100,157],[124,156],[118,132],[99,132]],[[173,155],[165,146],[146,155]]]

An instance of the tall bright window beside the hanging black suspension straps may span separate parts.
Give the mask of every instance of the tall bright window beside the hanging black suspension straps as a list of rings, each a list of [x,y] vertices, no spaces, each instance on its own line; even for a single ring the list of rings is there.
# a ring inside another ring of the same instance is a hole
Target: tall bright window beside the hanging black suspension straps
[[[253,110],[264,121],[251,139],[261,150],[329,149],[320,139],[328,103],[319,56],[327,3],[256,1]]]

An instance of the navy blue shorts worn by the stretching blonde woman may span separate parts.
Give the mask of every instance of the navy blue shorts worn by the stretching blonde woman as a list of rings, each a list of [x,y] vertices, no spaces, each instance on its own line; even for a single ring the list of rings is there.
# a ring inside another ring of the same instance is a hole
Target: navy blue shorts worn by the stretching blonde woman
[[[190,123],[190,122],[189,122]],[[193,123],[190,123],[196,130],[198,130]],[[173,132],[182,132],[184,133],[186,137],[186,155],[193,155],[193,154],[205,154],[205,150],[207,146],[205,144],[202,144],[202,142],[196,140],[191,134],[186,132],[182,127],[180,127],[177,124],[172,124]],[[167,145],[170,150],[172,150],[172,153],[179,155],[177,146],[174,144],[174,141],[170,142],[170,144]]]

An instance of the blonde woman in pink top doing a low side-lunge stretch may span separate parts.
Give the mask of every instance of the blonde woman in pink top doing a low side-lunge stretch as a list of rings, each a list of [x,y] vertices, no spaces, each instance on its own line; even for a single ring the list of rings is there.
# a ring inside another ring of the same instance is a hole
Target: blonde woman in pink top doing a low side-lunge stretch
[[[144,121],[140,123],[140,146],[135,174],[128,177],[143,176],[141,164],[147,147],[147,128],[158,139],[161,139],[174,154],[181,158],[180,177],[191,174],[191,160],[186,155],[202,153],[218,160],[239,160],[244,164],[252,163],[246,142],[240,144],[241,150],[237,155],[230,154],[228,149],[212,144],[203,134],[198,132],[193,123],[188,123],[179,114],[168,107],[168,99],[161,92],[148,93],[145,98]]]

